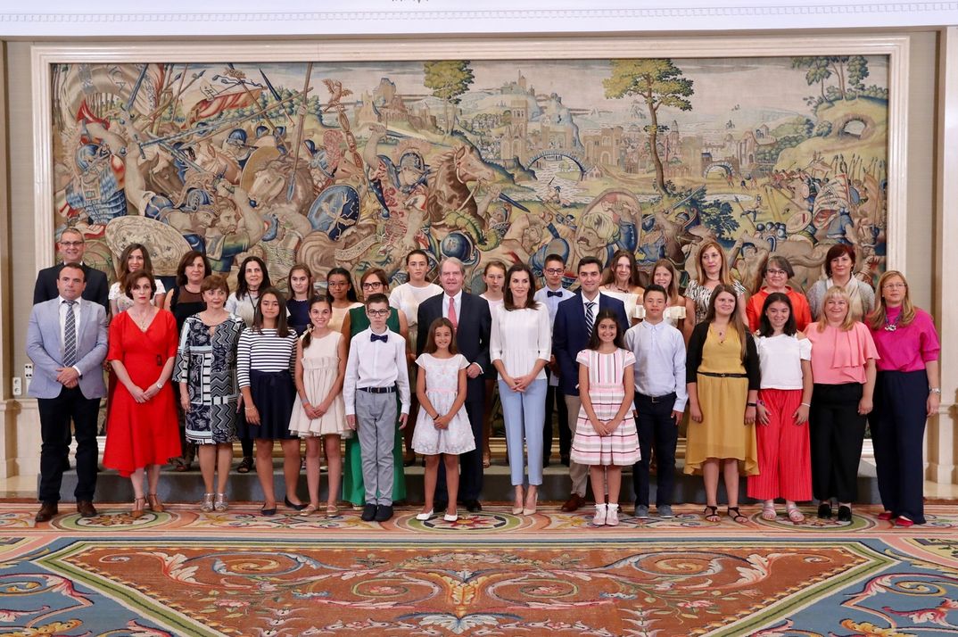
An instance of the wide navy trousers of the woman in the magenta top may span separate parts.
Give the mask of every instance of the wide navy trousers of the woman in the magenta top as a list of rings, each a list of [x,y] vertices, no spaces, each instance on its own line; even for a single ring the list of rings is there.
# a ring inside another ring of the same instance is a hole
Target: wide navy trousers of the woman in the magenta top
[[[875,444],[878,493],[886,511],[924,524],[924,424],[928,375],[878,372],[868,417]]]

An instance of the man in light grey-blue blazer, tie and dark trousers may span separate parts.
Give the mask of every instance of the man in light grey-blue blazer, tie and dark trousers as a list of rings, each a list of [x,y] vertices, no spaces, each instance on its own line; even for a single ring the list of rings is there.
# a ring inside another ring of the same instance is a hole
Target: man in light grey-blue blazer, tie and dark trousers
[[[34,361],[29,396],[40,413],[40,489],[37,522],[57,514],[63,465],[70,451],[70,421],[77,436],[77,511],[97,514],[97,414],[106,357],[106,310],[81,298],[86,273],[66,263],[57,274],[56,299],[34,306],[27,328],[27,355]]]

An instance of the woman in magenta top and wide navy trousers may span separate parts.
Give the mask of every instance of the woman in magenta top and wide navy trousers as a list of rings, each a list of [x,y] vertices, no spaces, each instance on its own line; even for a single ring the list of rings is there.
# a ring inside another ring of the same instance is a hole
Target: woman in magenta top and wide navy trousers
[[[881,356],[868,419],[885,508],[878,517],[901,527],[924,524],[924,422],[942,394],[938,332],[931,316],[911,305],[908,283],[895,270],[878,280],[878,306],[867,321]]]

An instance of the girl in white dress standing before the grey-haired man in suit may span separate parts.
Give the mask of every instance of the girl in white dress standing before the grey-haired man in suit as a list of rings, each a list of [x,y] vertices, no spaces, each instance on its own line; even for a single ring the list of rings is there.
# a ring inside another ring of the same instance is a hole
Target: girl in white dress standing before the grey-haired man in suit
[[[445,463],[445,488],[449,499],[443,519],[455,522],[456,496],[459,491],[459,454],[476,448],[472,425],[463,409],[466,402],[466,357],[458,353],[452,339],[452,324],[438,318],[429,326],[422,354],[416,359],[422,372],[416,378],[416,396],[420,401],[419,418],[413,434],[413,449],[425,456],[425,504],[418,520],[432,516],[439,455]]]

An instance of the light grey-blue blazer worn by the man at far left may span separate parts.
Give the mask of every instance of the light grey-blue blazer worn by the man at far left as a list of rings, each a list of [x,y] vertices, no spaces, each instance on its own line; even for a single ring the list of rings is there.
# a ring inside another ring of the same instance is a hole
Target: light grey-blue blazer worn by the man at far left
[[[59,327],[59,295],[34,306],[27,327],[27,355],[34,361],[34,379],[28,396],[57,398],[63,385],[57,382],[57,367],[63,367],[63,335]],[[77,369],[80,391],[86,398],[103,398],[103,358],[106,357],[106,310],[80,300],[77,325]]]

